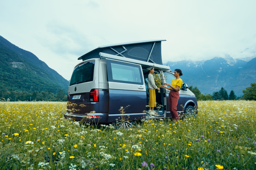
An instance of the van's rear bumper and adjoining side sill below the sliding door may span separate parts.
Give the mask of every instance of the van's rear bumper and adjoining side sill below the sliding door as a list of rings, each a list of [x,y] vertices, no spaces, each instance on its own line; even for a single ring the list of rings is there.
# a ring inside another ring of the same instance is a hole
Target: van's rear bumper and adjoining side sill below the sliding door
[[[86,118],[85,115],[73,115],[68,112],[65,113],[65,118],[71,118],[75,121],[81,121],[84,119],[86,122],[95,122],[95,123],[111,123],[116,122],[117,120],[125,119],[125,120],[141,120],[146,117],[145,113],[128,113],[128,114],[108,114],[108,113],[94,113],[91,118]]]

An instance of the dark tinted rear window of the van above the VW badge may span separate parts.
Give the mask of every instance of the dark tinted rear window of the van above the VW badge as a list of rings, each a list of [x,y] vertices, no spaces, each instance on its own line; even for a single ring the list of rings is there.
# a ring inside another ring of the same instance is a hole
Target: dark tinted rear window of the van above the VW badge
[[[76,67],[71,76],[69,86],[82,82],[93,81],[94,63],[95,61],[90,61]]]

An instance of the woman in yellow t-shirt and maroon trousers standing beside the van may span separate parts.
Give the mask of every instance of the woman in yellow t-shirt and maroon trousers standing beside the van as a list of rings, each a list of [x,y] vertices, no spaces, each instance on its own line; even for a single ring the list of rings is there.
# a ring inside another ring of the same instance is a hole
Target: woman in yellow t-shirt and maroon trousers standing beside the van
[[[174,70],[174,76],[176,77],[176,79],[172,80],[172,84],[168,84],[168,83],[164,83],[164,85],[170,86],[170,87],[166,87],[166,86],[161,86],[161,88],[165,88],[170,90],[169,93],[169,109],[172,115],[172,119],[175,120],[179,120],[179,115],[177,112],[177,104],[178,104],[178,100],[180,98],[179,95],[179,91],[180,91],[180,87],[183,84],[183,81],[181,80],[180,76],[182,76],[182,71],[180,69],[175,69]]]

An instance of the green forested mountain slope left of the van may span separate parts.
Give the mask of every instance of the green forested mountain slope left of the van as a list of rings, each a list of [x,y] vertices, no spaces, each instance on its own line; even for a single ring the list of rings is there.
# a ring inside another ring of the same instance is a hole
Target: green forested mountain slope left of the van
[[[50,91],[64,93],[68,80],[39,60],[33,53],[0,36],[0,89],[9,91]],[[2,91],[2,93],[4,93]],[[0,94],[2,97],[3,94]]]

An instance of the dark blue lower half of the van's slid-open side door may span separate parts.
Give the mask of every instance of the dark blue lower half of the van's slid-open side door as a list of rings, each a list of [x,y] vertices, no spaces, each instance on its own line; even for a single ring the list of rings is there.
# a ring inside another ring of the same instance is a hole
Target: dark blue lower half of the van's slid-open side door
[[[146,92],[109,89],[109,114],[118,114],[120,107],[128,105],[126,113],[142,113],[147,109]]]

